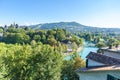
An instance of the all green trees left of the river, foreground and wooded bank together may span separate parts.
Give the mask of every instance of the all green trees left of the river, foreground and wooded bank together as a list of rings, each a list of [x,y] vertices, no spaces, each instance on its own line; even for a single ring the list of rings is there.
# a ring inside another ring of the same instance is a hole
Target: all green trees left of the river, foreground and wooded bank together
[[[66,61],[63,52],[69,42],[76,51],[83,39],[64,29],[32,30],[17,24],[1,28],[1,33],[1,80],[78,79],[75,70],[83,67],[84,61],[79,56]]]

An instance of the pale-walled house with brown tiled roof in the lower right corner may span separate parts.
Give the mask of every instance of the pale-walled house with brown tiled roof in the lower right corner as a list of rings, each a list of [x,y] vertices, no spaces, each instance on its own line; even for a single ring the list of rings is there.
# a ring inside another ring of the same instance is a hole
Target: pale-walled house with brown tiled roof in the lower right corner
[[[76,70],[79,80],[120,80],[120,59],[90,52],[86,67]]]

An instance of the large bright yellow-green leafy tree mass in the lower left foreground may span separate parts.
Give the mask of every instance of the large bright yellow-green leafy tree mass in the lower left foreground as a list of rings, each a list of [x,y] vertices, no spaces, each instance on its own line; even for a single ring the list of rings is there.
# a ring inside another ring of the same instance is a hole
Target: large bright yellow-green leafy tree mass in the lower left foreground
[[[60,80],[62,55],[48,45],[16,44],[7,48],[2,60],[4,77],[10,80]]]

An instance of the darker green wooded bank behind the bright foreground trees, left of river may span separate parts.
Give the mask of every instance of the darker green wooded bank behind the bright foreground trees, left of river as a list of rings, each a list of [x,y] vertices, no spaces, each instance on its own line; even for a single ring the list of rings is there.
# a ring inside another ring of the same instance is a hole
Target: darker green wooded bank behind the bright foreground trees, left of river
[[[4,30],[2,41],[13,44],[30,44],[32,40],[51,46],[59,45],[59,43],[66,43],[65,41],[75,42],[78,46],[83,44],[82,39],[75,37],[64,29],[32,30],[13,27]]]

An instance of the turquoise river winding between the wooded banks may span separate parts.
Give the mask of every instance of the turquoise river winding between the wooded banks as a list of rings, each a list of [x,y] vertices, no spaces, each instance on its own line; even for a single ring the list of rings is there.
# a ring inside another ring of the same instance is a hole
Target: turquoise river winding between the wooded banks
[[[86,46],[86,43],[85,43],[85,46],[83,47],[83,50],[80,51],[78,54],[83,60],[86,60],[86,56],[90,53],[90,51],[97,52],[97,50],[98,50],[98,48],[88,47],[88,46]],[[66,56],[64,59],[65,60],[70,60],[71,58],[72,58],[72,56],[69,55],[69,56]]]

